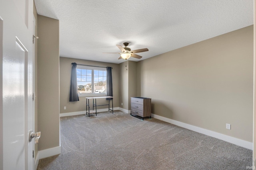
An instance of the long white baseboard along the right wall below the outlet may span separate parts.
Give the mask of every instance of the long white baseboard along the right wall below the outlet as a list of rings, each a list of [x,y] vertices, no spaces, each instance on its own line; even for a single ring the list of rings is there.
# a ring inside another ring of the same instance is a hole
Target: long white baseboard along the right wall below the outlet
[[[193,126],[193,125],[189,125],[187,123],[172,120],[172,119],[162,117],[162,116],[159,116],[159,115],[151,114],[151,116],[155,119],[159,119],[159,120],[162,120],[162,121],[165,121],[165,122],[168,122],[168,123],[172,123],[174,125],[184,127],[186,129],[189,129],[189,130],[192,130],[192,131],[195,131],[195,132],[198,132],[198,133],[202,133],[204,135],[208,135],[210,137],[214,137],[214,138],[217,138],[217,139],[220,139],[220,140],[238,145],[240,147],[244,147],[246,149],[252,150],[252,146],[253,146],[252,142],[248,142],[248,141],[244,141],[242,139],[237,139],[237,138],[234,138],[234,137],[230,137],[228,135],[223,135],[221,133],[217,133],[217,132],[214,132],[214,131],[203,129],[201,127],[196,127],[196,126]]]

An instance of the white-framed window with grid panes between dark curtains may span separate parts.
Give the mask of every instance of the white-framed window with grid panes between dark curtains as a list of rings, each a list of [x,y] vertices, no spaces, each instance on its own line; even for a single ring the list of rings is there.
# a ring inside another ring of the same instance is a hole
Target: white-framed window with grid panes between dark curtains
[[[106,94],[106,68],[77,66],[76,76],[79,96]]]

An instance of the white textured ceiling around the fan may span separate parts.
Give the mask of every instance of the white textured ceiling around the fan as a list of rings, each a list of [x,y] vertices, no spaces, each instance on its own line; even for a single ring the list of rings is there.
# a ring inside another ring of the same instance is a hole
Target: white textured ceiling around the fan
[[[122,63],[129,42],[140,61],[253,24],[253,0],[34,0],[60,20],[60,56]]]

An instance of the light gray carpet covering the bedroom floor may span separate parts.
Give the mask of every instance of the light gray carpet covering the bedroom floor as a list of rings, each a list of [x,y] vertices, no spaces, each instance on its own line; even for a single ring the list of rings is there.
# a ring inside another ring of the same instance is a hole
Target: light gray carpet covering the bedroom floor
[[[252,150],[121,111],[60,118],[61,154],[38,170],[246,170]]]

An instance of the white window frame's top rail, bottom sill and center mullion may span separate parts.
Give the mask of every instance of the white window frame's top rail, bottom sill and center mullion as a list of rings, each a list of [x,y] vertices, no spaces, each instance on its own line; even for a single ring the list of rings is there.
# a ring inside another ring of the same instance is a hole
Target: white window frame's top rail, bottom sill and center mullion
[[[83,66],[83,65],[77,65],[77,69],[88,69],[92,70],[92,93],[78,93],[79,97],[83,96],[106,96],[106,93],[94,93],[94,70],[103,70],[106,71],[107,68],[104,67],[96,67],[96,66]]]

